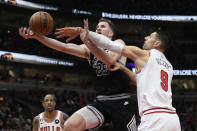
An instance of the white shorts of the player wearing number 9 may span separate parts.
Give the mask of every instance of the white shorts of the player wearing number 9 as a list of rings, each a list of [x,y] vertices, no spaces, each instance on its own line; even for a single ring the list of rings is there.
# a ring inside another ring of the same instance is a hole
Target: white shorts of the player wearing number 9
[[[179,117],[169,113],[142,115],[138,131],[181,131]]]

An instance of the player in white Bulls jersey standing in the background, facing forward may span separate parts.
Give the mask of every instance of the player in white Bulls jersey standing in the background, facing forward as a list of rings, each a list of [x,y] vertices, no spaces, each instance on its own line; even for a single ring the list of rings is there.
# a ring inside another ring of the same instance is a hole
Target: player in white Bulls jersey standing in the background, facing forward
[[[55,110],[56,97],[47,94],[42,102],[44,112],[34,117],[33,131],[63,131],[64,122],[68,119],[68,115]]]

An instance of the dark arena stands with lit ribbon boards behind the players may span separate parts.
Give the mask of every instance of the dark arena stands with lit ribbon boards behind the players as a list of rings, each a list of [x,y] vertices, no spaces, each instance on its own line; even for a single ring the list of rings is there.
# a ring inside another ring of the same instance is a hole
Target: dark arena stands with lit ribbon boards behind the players
[[[107,17],[116,25],[116,38],[139,47],[150,32],[169,31],[174,40],[167,52],[175,70],[173,105],[182,130],[197,130],[196,7],[194,0],[0,0],[0,130],[31,130],[46,93],[56,94],[57,108],[69,115],[95,96],[85,59],[19,36],[18,28],[28,26],[31,15],[39,10],[53,16],[55,28],[83,26],[88,18],[90,30],[95,30],[99,18]],[[48,36],[55,38],[53,33]],[[79,38],[71,42],[81,43]],[[134,69],[132,61],[127,61],[127,67]],[[131,89],[136,92],[133,85]]]

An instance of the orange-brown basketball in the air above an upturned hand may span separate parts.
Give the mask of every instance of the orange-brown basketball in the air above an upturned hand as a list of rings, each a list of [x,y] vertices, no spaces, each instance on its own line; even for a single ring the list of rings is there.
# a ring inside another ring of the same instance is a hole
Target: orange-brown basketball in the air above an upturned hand
[[[34,33],[48,35],[53,30],[53,17],[44,11],[36,12],[31,16],[29,26]]]

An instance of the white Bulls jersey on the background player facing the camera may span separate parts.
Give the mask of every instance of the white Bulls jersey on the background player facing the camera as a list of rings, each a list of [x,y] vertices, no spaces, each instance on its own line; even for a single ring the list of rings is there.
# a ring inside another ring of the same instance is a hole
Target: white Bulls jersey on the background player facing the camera
[[[63,113],[59,110],[56,111],[56,117],[52,121],[44,120],[44,112],[39,114],[38,131],[63,131]]]

